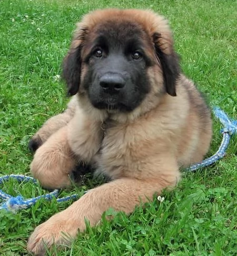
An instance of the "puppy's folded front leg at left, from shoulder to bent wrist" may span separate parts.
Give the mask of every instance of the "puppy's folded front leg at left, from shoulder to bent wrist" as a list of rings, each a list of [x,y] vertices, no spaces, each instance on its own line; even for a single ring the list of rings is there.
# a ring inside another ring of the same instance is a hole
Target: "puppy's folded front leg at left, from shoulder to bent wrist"
[[[90,163],[99,150],[102,132],[100,122],[88,120],[78,110],[66,126],[37,149],[31,163],[33,176],[48,189],[70,185],[69,174],[78,161]]]

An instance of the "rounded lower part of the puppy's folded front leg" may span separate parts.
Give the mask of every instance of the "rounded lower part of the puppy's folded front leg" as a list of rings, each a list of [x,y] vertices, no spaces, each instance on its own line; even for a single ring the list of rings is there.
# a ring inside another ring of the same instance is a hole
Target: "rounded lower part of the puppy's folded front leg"
[[[31,173],[44,188],[63,188],[70,185],[69,174],[75,165],[67,140],[67,126],[64,126],[38,148],[31,163]]]

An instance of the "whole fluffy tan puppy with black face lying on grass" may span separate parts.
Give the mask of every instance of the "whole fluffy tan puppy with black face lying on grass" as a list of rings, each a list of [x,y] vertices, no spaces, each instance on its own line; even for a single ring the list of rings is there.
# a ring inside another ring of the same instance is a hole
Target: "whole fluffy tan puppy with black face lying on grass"
[[[78,162],[111,178],[39,225],[28,250],[70,243],[108,208],[131,213],[179,182],[209,150],[208,106],[182,73],[167,21],[152,11],[103,9],[77,24],[63,62],[68,109],[33,137],[31,172],[50,189],[70,185]]]

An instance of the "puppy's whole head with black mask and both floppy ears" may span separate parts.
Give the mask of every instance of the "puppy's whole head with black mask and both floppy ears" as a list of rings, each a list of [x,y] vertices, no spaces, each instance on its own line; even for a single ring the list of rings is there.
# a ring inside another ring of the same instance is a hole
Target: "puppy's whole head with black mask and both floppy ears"
[[[108,112],[131,112],[151,96],[176,96],[179,73],[169,25],[137,9],[85,15],[63,64],[68,94],[79,92]]]

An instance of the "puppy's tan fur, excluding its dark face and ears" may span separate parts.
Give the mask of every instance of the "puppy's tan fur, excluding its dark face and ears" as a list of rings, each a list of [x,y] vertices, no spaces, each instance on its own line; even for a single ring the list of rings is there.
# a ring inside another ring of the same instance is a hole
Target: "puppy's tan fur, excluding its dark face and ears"
[[[172,34],[163,17],[150,11],[116,9],[86,15],[75,32],[71,51],[82,43],[82,39],[78,39],[82,28],[93,34],[97,24],[111,17],[115,22],[135,20],[150,37],[160,33],[161,42],[154,43],[162,45],[166,54],[172,54]],[[147,51],[154,55],[153,48]],[[155,56],[153,58],[155,60]],[[81,79],[86,74],[86,66],[82,69]],[[177,96],[164,94],[159,62],[147,72],[152,82],[151,92],[131,113],[95,109],[80,87],[77,100],[73,98],[76,110],[72,119],[36,151],[31,171],[48,188],[69,184],[68,174],[78,160],[96,164],[113,181],[90,190],[38,226],[29,238],[29,251],[44,255],[44,243],[51,247],[53,243],[70,242],[78,230],[84,231],[85,218],[95,225],[110,207],[131,213],[135,205],[152,199],[154,193],[173,188],[180,180],[181,166],[203,159],[209,149],[212,123],[199,92],[181,75],[176,82]],[[108,115],[110,121],[107,122]],[[102,122],[105,122],[105,136]]]

